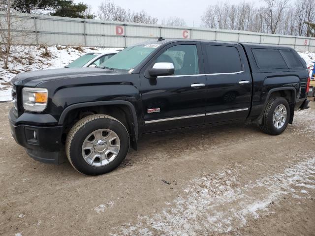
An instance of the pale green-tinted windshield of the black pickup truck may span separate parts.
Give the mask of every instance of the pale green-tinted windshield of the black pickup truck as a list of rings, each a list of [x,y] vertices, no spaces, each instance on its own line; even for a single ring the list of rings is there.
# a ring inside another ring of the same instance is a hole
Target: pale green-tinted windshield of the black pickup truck
[[[146,59],[160,44],[137,45],[124,49],[99,67],[130,70]]]

